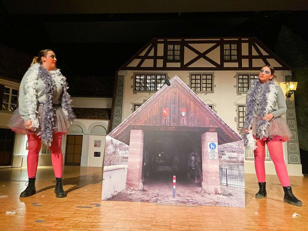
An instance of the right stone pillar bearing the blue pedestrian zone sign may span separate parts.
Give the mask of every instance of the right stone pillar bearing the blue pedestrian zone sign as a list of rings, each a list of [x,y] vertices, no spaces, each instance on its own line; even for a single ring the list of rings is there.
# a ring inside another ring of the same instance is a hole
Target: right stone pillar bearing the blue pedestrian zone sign
[[[220,194],[219,157],[217,145],[217,159],[209,159],[208,142],[218,142],[216,132],[205,132],[201,136],[202,142],[202,192]]]

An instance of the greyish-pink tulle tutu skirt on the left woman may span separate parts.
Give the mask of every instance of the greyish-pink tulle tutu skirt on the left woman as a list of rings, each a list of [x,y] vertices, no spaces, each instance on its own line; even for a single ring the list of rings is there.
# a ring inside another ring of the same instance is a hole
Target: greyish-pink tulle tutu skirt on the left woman
[[[43,124],[43,113],[44,113],[44,105],[38,105],[38,118],[39,118],[39,127],[34,131],[31,132],[26,129],[25,127],[25,121],[22,119],[22,117],[19,114],[19,109],[17,108],[12,118],[10,119],[10,129],[16,133],[23,133],[23,134],[42,134],[42,127],[41,124]],[[53,105],[54,108],[54,120],[52,124],[52,130],[53,133],[68,133],[68,129],[70,128],[71,124],[68,122],[61,105]]]

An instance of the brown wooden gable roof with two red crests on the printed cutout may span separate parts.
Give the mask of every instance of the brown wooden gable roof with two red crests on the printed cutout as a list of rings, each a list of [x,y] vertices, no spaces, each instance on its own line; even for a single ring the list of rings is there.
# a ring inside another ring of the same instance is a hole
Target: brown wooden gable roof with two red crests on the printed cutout
[[[187,109],[187,117],[180,116],[181,105]],[[163,108],[174,112],[170,111],[170,116],[164,117]],[[164,85],[108,135],[129,145],[132,129],[196,131],[201,134],[215,131],[219,144],[242,139],[178,76],[174,76],[170,86]]]

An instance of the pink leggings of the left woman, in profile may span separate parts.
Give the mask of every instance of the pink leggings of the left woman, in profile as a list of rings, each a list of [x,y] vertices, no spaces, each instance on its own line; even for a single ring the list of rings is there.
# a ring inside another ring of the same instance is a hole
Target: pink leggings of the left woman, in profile
[[[27,157],[27,170],[28,177],[32,178],[36,176],[36,170],[39,163],[39,151],[42,146],[42,140],[35,134],[27,134],[29,152]],[[62,177],[63,168],[63,155],[61,150],[62,133],[54,133],[53,141],[49,146],[51,152],[51,163],[54,168],[55,177]]]

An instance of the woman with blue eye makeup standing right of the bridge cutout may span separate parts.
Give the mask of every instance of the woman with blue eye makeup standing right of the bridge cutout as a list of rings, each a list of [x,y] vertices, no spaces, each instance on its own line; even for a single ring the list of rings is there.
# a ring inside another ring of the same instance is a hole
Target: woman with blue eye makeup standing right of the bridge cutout
[[[286,100],[282,89],[273,81],[274,68],[262,67],[259,81],[251,83],[246,96],[245,125],[240,134],[246,148],[254,151],[254,164],[259,191],[256,198],[267,196],[265,189],[265,143],[274,162],[284,191],[284,202],[302,206],[292,192],[286,163],[283,158],[282,142],[290,140],[291,132],[281,117],[286,113]],[[278,105],[278,109],[275,107]]]

